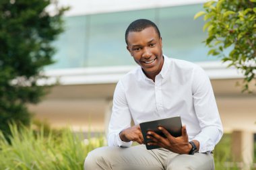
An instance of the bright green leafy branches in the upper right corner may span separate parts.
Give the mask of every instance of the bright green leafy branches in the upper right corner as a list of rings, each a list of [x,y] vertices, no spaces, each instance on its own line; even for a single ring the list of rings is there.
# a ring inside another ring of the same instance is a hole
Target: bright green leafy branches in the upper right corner
[[[221,56],[228,67],[236,67],[245,75],[243,90],[249,91],[250,82],[256,86],[256,1],[208,1],[195,19],[204,16],[208,36],[205,44],[211,48],[208,54]],[[225,48],[231,48],[228,56]]]

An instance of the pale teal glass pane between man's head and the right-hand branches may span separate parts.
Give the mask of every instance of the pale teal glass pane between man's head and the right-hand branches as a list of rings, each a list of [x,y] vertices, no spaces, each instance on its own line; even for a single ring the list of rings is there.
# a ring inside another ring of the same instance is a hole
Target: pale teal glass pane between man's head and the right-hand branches
[[[195,13],[202,10],[202,4],[159,9],[158,26],[164,54],[193,62],[218,60],[207,56],[209,48],[202,43],[206,38],[203,19],[193,19]]]

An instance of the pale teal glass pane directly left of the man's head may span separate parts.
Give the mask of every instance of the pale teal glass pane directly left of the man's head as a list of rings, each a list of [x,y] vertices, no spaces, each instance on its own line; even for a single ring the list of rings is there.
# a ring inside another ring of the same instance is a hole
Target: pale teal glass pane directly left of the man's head
[[[87,66],[135,65],[126,49],[125,30],[135,19],[154,22],[154,16],[154,9],[91,15]]]

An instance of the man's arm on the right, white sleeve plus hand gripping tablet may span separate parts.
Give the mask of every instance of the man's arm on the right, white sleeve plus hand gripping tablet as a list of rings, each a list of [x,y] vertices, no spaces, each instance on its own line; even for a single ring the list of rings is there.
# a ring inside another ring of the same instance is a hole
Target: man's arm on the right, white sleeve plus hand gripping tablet
[[[199,153],[205,153],[214,150],[214,146],[222,137],[223,129],[210,79],[200,67],[195,68],[193,73],[192,92],[193,105],[201,128],[201,132],[192,141],[197,146]],[[171,136],[164,128],[160,128],[160,130],[167,138],[149,132],[148,138],[154,141],[150,144],[167,148],[179,154],[188,154],[191,151],[192,146],[189,144],[187,130],[184,126],[182,136],[177,138]]]

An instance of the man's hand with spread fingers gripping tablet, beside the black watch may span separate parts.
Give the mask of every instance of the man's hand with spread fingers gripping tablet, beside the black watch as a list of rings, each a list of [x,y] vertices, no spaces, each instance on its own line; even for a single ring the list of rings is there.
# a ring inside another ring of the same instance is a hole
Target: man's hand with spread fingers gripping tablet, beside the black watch
[[[179,154],[189,154],[189,151],[191,151],[191,144],[189,144],[189,137],[187,135],[186,126],[183,126],[182,128],[182,135],[175,138],[172,136],[165,128],[158,127],[159,130],[163,132],[163,134],[166,136],[166,138],[156,134],[153,131],[149,131],[147,138],[152,139],[152,142],[148,142],[149,145],[158,145],[162,148],[166,148],[169,151],[172,151],[173,153],[179,153]],[[197,140],[195,141],[195,144],[197,145],[197,148],[199,148],[199,142]]]

